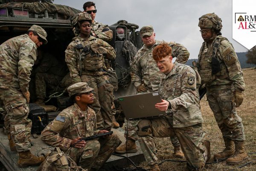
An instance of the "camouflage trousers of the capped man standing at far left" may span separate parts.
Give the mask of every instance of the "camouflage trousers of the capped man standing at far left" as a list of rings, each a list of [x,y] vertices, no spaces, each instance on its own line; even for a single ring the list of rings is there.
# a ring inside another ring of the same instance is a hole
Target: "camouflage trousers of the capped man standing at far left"
[[[10,132],[17,151],[29,151],[31,145],[28,138],[31,134],[32,121],[27,118],[29,106],[26,98],[15,87],[0,88],[0,104],[3,104],[3,109],[6,110],[5,127],[10,128],[7,132]]]

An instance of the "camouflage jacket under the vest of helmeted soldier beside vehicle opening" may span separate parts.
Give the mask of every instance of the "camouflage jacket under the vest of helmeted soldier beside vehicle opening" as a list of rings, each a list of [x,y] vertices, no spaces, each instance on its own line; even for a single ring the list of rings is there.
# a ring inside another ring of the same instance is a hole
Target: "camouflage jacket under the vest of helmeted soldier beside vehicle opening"
[[[83,46],[99,44],[101,47],[105,48],[106,54],[104,54],[106,59],[115,59],[116,58],[116,51],[114,48],[109,45],[107,42],[103,41],[102,39],[97,39],[94,36],[90,36],[88,39],[83,39],[80,36],[74,37],[73,41],[68,45],[67,49],[65,50],[66,56],[65,61],[67,62],[67,66],[70,70],[70,76],[74,83],[82,82],[80,77],[80,62],[79,62],[79,54],[85,58],[84,53],[81,52],[82,49],[77,49],[76,45],[82,44]],[[101,76],[106,74],[105,71],[84,71],[82,74],[85,75],[92,75],[92,76]]]

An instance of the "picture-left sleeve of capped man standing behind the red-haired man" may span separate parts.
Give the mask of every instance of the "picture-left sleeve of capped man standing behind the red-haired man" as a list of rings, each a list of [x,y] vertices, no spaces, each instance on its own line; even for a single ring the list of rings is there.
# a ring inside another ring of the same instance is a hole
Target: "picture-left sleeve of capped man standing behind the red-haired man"
[[[142,73],[138,59],[139,54],[140,52],[138,51],[131,66],[131,83],[134,84],[135,87],[138,87],[142,84]]]

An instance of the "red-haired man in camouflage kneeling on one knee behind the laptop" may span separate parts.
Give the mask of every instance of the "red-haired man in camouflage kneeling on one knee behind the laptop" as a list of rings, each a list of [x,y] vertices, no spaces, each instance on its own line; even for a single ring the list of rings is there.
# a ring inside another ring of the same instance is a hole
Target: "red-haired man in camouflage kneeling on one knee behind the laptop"
[[[203,141],[203,118],[196,91],[197,75],[184,64],[172,63],[172,48],[159,44],[153,50],[154,61],[163,73],[158,88],[163,97],[155,107],[168,116],[143,119],[137,127],[138,140],[152,170],[159,170],[153,137],[177,136],[189,170],[201,170],[210,158],[210,143]]]

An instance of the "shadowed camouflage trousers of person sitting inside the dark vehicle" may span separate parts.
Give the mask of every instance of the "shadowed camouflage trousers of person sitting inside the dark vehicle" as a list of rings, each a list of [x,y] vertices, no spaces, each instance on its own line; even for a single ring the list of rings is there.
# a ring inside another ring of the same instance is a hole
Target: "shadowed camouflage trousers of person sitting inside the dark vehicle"
[[[54,90],[60,83],[62,76],[49,73],[35,74],[35,95],[36,98],[44,99],[46,97],[46,88]]]

